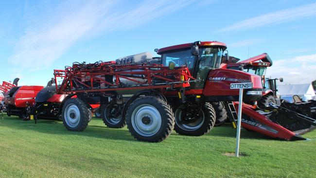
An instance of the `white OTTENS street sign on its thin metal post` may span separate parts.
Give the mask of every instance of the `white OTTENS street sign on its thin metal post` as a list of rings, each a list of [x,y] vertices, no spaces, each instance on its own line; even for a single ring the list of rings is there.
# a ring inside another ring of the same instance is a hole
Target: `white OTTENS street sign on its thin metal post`
[[[236,149],[235,149],[235,156],[239,157],[239,140],[240,140],[240,128],[241,128],[241,121],[242,121],[243,91],[244,89],[252,89],[252,83],[230,84],[230,89],[239,89],[238,122],[237,122],[237,134],[236,134]]]

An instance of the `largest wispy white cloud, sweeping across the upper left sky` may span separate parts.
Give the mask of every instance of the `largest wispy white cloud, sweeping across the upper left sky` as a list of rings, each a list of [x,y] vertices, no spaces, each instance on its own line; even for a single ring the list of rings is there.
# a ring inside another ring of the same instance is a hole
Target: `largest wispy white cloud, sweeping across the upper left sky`
[[[175,12],[193,0],[144,1],[138,8],[125,11],[113,0],[70,0],[58,5],[49,2],[31,7],[25,16],[24,35],[8,59],[20,70],[42,70],[65,53],[78,40],[118,29],[140,26],[154,18]],[[113,9],[117,9],[113,13]]]

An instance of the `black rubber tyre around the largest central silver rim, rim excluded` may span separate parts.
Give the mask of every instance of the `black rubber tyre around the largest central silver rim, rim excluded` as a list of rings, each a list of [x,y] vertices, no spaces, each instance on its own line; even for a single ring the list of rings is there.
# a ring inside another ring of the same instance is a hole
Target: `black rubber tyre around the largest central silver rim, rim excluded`
[[[163,130],[159,130],[158,134],[145,138],[144,136],[139,135],[134,130],[132,126],[132,122],[131,122],[132,111],[130,109],[134,107],[135,105],[138,105],[139,103],[142,104],[142,103],[150,103],[150,102],[158,103],[162,107],[164,113],[160,113],[161,119],[162,119],[161,125],[165,125],[165,128]],[[163,115],[165,115],[165,117]],[[169,135],[171,134],[175,125],[175,118],[174,118],[174,114],[172,112],[171,107],[165,101],[155,96],[143,96],[143,97],[137,98],[130,104],[130,106],[128,106],[127,113],[126,113],[126,124],[127,124],[127,128],[129,132],[135,139],[139,141],[145,141],[145,142],[162,142],[163,140],[168,138]]]

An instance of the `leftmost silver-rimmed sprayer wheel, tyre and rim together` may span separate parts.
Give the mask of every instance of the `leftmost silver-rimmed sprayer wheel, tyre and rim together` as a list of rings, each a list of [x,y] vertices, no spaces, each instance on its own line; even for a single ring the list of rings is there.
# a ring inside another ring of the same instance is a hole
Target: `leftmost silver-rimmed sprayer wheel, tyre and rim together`
[[[78,98],[65,101],[62,109],[63,124],[70,131],[83,131],[88,126],[89,113],[87,105]]]

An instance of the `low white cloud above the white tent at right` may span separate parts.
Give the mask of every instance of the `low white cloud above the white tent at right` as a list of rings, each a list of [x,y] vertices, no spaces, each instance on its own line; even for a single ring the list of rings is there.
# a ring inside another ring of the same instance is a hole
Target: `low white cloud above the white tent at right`
[[[316,80],[316,54],[273,61],[265,76],[283,77],[285,84],[304,84]]]

